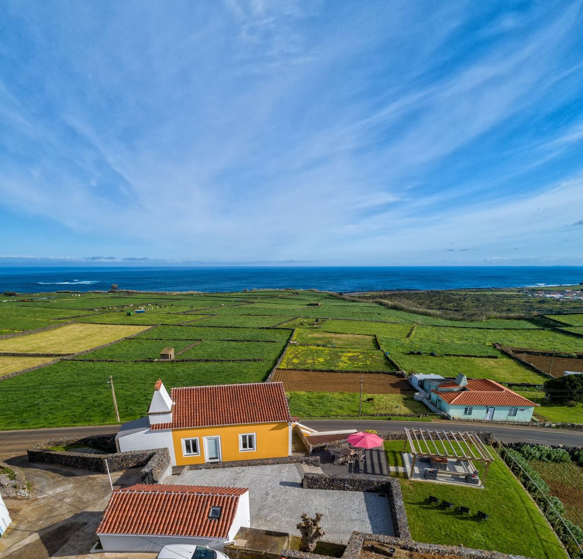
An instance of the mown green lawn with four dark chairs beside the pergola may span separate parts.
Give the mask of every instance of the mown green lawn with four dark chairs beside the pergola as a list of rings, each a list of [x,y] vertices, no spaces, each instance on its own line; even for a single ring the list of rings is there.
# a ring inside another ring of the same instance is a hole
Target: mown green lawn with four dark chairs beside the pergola
[[[389,461],[403,449],[403,441],[387,441]],[[478,469],[482,470],[481,466]],[[399,478],[414,540],[452,546],[535,557],[565,559],[566,553],[553,534],[538,507],[521,484],[496,456],[490,465],[486,487],[457,487],[429,481]],[[456,507],[469,507],[469,516],[427,504],[427,497],[454,502]],[[490,515],[478,522],[476,511]]]

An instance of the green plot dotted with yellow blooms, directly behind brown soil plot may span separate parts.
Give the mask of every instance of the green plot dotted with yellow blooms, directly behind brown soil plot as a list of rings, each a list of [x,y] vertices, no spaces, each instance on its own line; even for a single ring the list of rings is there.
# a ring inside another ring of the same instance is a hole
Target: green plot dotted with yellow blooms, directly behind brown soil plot
[[[338,371],[394,371],[382,351],[320,346],[289,346],[282,369]]]

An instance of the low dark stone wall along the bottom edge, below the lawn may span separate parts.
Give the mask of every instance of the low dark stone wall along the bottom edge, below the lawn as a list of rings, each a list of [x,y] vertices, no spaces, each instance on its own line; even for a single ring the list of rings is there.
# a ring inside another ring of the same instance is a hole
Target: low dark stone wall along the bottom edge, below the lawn
[[[387,547],[398,547],[416,553],[432,554],[436,556],[447,555],[448,557],[460,557],[461,559],[525,559],[522,556],[507,555],[505,553],[500,553],[499,551],[471,549],[469,547],[460,546],[440,546],[433,543],[415,542],[403,537],[365,534],[362,532],[352,533],[341,559],[360,559],[363,551],[366,551],[366,548],[371,543],[377,543],[381,544],[381,546]],[[329,557],[318,555],[316,553],[303,553],[302,551],[291,550],[283,550],[282,557],[285,559],[329,559]]]

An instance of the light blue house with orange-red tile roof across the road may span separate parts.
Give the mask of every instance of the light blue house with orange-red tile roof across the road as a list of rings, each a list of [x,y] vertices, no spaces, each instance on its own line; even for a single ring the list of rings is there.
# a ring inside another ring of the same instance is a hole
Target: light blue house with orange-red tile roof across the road
[[[530,421],[538,406],[497,382],[468,380],[464,375],[442,382],[431,391],[430,400],[452,419],[469,421]]]

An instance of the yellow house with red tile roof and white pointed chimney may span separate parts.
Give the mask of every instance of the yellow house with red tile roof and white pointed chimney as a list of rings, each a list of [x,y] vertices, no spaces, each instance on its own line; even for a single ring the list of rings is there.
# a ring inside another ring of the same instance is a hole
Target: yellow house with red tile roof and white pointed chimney
[[[124,424],[120,451],[167,447],[174,466],[291,455],[282,382],[154,387],[147,413]]]

